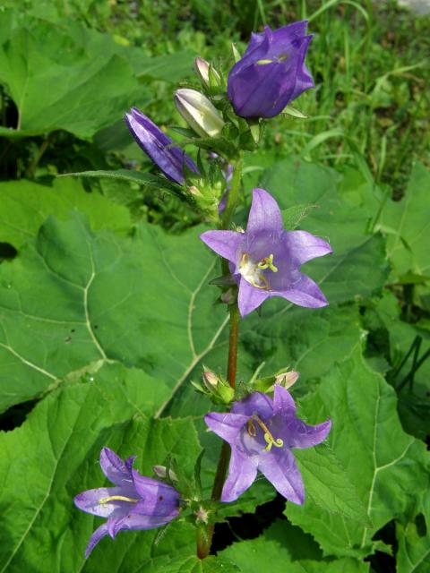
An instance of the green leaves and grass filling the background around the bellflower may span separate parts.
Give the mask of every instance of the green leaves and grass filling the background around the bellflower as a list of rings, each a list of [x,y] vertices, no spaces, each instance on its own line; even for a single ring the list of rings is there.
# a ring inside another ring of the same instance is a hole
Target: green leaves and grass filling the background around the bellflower
[[[194,56],[304,17],[309,119],[275,118],[246,156],[239,218],[258,184],[290,227],[329,239],[306,273],[331,304],[247,317],[239,378],[289,365],[302,417],[331,415],[328,445],[297,452],[305,505],[260,480],[226,506],[208,560],[174,523],[84,561],[97,519],[72,500],[101,485],[101,447],[147,475],[173,453],[190,478],[204,447],[207,492],[219,452],[189,383],[225,367],[217,262],[122,115],[181,125],[171,92]],[[429,23],[370,1],[0,4],[0,571],[430,570]],[[57,177],[97,169],[135,175]]]

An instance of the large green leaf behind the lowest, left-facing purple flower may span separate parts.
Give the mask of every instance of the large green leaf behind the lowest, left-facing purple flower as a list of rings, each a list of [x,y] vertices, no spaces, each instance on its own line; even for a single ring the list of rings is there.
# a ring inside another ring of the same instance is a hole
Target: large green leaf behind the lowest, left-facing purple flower
[[[170,454],[193,475],[200,445],[192,421],[149,417],[167,395],[163,381],[105,364],[82,381],[64,381],[22,427],[0,435],[1,571],[119,572],[125,562],[138,570],[151,556],[193,557],[193,531],[179,524],[152,550],[157,532],[104,539],[85,562],[86,544],[102,521],[73,506],[74,495],[107,483],[98,462],[104,446],[122,458],[137,455],[135,466],[144,475]]]

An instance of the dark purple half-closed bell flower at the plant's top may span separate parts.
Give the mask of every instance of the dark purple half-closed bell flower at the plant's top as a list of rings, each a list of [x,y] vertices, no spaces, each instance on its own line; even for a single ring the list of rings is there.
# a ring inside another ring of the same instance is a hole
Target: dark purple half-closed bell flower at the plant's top
[[[242,117],[273,117],[314,81],[305,66],[312,35],[307,21],[253,34],[244,56],[228,74],[228,98]]]

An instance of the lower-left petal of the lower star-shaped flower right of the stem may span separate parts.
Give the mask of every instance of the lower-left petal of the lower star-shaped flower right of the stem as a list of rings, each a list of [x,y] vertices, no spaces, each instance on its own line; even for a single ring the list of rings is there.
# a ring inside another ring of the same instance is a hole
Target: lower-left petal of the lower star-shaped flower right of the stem
[[[222,489],[221,501],[235,501],[247,490],[257,476],[257,459],[232,448],[228,477]]]

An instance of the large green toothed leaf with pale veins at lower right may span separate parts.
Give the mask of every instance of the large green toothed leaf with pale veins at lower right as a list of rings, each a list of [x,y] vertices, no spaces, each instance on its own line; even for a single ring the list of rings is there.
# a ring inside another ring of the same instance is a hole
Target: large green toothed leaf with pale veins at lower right
[[[367,366],[359,346],[326,375],[303,406],[311,421],[331,415],[329,443],[373,526],[333,515],[314,500],[306,500],[303,509],[288,503],[286,515],[312,534],[326,554],[374,552],[379,546],[372,541],[374,533],[391,519],[408,515],[428,486],[426,446],[403,431],[393,389]]]

